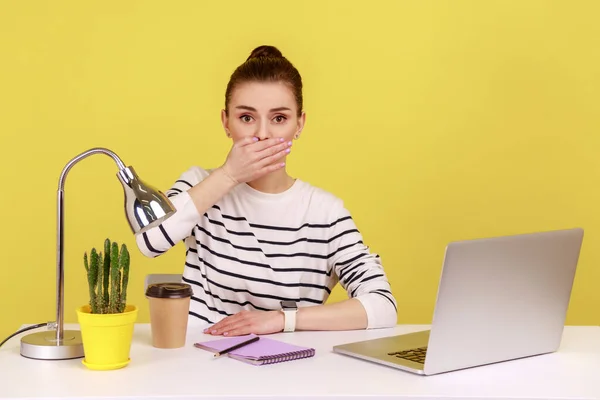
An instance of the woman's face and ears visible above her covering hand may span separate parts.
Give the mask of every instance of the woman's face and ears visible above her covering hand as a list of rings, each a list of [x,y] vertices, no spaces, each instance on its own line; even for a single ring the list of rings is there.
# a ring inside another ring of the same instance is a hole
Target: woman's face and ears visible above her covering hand
[[[298,108],[291,89],[284,83],[248,82],[237,86],[229,103],[229,115],[221,112],[223,127],[234,142],[256,136],[260,140],[298,138],[305,114]]]

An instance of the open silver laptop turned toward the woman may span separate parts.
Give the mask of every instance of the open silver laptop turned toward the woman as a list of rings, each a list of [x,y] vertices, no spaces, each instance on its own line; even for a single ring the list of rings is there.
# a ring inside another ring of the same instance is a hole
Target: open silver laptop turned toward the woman
[[[555,352],[582,242],[580,228],[452,242],[430,329],[333,351],[421,375]]]

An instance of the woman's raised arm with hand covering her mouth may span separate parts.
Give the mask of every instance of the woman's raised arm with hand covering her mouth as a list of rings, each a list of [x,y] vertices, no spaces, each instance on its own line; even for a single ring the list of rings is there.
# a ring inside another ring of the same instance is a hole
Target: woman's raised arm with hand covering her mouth
[[[280,139],[258,142],[247,138],[235,143],[223,166],[204,179],[199,180],[192,170],[183,173],[167,192],[176,212],[160,225],[136,235],[141,253],[154,258],[187,238],[201,216],[238,183],[281,168],[282,163],[276,161],[285,157],[289,146]]]

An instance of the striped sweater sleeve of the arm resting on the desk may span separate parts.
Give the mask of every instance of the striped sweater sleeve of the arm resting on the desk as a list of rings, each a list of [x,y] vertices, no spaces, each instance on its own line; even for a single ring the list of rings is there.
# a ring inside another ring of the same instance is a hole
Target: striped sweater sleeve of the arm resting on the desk
[[[381,258],[364,243],[350,213],[343,205],[331,228],[330,265],[348,297],[358,299],[366,310],[367,329],[393,327],[398,321],[396,299]]]

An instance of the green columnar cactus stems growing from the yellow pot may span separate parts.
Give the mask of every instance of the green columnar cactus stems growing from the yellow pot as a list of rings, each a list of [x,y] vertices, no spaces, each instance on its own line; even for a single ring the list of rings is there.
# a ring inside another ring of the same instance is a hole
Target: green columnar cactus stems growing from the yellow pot
[[[95,248],[83,253],[83,265],[87,273],[90,307],[92,314],[116,314],[125,311],[127,285],[129,283],[129,251],[109,239],[104,241],[104,252]]]

